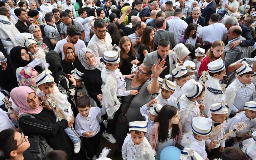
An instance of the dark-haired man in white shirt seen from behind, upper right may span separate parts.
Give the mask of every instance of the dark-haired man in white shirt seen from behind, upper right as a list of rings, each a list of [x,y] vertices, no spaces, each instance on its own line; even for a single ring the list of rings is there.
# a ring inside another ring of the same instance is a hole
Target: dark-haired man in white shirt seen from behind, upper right
[[[198,34],[198,43],[204,41],[213,43],[216,40],[226,41],[228,32],[227,28],[224,24],[218,23],[218,21],[219,15],[217,13],[212,14],[209,20],[209,25],[204,26]]]

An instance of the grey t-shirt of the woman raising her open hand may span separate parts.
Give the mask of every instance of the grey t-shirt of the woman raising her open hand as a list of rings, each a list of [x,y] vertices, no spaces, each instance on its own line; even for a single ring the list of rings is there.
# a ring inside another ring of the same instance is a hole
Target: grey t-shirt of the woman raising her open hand
[[[139,86],[135,88],[131,87],[131,79],[126,78],[125,82],[126,82],[126,91],[129,91],[132,89],[136,90],[137,88],[139,88]],[[126,113],[126,120],[127,120],[126,122],[128,126],[129,126],[129,122],[144,120],[143,116],[140,113],[140,107],[145,105],[149,101],[150,94],[147,89],[149,84],[151,84],[151,82],[146,81],[146,83],[144,83],[143,86],[141,87],[139,94],[137,94],[137,96],[135,96],[131,101],[131,105]],[[121,112],[125,110],[125,107],[128,101],[130,100],[130,98],[131,98],[131,95],[124,97],[124,101],[122,102],[122,105],[121,105]]]

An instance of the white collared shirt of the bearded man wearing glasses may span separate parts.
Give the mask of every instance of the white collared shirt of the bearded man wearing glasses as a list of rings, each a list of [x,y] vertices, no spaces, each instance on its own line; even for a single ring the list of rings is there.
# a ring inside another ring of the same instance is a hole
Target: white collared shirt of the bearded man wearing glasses
[[[104,52],[112,50],[112,39],[108,32],[106,32],[105,42],[100,40],[96,34],[92,36],[87,47],[90,48],[96,57],[103,57]]]

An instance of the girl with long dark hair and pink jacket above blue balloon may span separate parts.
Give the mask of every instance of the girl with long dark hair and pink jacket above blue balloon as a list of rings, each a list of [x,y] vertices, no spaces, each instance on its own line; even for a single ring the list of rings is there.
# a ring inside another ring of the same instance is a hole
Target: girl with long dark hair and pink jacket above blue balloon
[[[179,147],[182,139],[182,125],[179,122],[178,109],[164,105],[159,113],[159,122],[156,122],[149,134],[150,145],[156,149],[156,160],[160,158],[161,150],[166,146]]]

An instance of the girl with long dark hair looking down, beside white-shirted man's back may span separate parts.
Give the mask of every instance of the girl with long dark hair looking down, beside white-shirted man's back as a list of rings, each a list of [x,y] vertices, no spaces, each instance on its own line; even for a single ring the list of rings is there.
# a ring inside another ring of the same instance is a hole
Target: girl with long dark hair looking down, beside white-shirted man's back
[[[184,35],[180,38],[180,43],[192,44],[194,47],[197,44],[197,25],[189,23]]]

